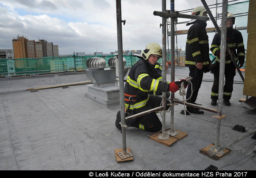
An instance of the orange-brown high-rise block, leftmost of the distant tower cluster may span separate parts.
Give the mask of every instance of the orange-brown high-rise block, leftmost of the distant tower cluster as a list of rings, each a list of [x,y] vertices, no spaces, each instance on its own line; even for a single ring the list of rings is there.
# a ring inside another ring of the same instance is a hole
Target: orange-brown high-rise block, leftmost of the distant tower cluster
[[[27,58],[27,38],[17,36],[17,39],[12,39],[14,58]]]

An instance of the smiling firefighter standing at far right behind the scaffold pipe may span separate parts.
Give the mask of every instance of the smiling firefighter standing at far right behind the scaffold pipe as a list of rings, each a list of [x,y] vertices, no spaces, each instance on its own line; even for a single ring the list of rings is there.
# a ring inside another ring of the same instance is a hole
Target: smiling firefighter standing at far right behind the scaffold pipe
[[[241,32],[233,29],[233,25],[235,24],[235,16],[231,13],[227,13],[227,44],[234,56],[236,62],[238,61],[238,66],[241,68],[244,64],[244,44],[243,37]],[[211,73],[214,75],[214,82],[211,93],[211,105],[215,106],[218,100],[218,90],[219,90],[219,61],[220,61],[220,35],[217,33],[211,45],[210,50],[216,56],[215,63],[212,67],[210,67]],[[237,50],[237,51],[236,51]],[[223,103],[226,106],[230,106],[230,98],[233,91],[233,82],[234,77],[236,75],[236,67],[229,56],[229,53],[226,51],[225,58],[225,85],[224,85],[224,93],[223,93]]]

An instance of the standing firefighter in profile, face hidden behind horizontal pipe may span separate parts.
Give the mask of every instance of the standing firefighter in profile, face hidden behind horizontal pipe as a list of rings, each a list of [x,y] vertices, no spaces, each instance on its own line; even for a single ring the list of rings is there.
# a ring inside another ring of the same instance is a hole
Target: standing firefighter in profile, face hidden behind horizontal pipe
[[[207,11],[203,6],[196,7],[192,10],[191,15],[206,16]],[[193,86],[193,94],[191,96],[191,84],[188,85],[186,99],[188,103],[196,104],[199,88],[202,84],[203,74],[209,72],[209,41],[206,33],[207,23],[204,20],[191,19],[186,25],[193,24],[187,35],[186,42],[186,61],[185,66],[189,67],[189,76]],[[202,110],[187,106],[187,111],[190,113],[203,114]],[[181,114],[185,114],[184,111]],[[189,114],[189,113],[188,113]]]

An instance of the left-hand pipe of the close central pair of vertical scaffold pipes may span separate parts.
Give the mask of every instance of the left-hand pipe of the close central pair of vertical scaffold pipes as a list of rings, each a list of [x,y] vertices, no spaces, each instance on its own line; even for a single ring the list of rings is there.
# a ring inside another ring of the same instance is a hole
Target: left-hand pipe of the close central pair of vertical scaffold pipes
[[[166,0],[162,0],[162,12],[166,10]],[[163,82],[166,82],[166,19],[162,17],[162,60],[163,60]],[[166,92],[162,94],[162,104],[164,106],[162,114],[162,136],[165,137],[165,110],[166,110]]]

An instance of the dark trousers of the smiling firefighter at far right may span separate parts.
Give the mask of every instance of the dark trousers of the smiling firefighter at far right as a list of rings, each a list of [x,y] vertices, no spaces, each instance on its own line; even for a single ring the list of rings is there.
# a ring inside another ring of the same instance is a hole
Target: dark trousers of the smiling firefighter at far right
[[[216,70],[214,73],[213,87],[211,93],[212,100],[218,100],[219,92],[219,70]],[[230,64],[225,65],[225,84],[223,89],[223,99],[230,100],[231,94],[233,91],[233,82],[236,75],[236,67],[231,61]]]

